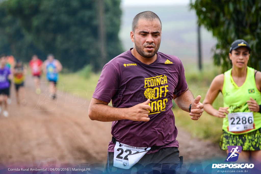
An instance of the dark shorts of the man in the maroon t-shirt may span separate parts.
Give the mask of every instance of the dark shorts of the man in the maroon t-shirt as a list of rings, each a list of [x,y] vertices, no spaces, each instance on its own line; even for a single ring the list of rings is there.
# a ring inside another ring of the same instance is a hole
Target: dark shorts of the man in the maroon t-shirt
[[[127,172],[126,169],[113,167],[114,152],[108,152],[106,171],[108,173],[116,173],[120,171]],[[177,147],[165,147],[159,149],[158,152],[145,154],[134,166],[128,169],[131,173],[133,167],[137,170],[152,171],[152,167],[161,167],[161,171],[176,171],[183,163],[183,157],[179,157],[179,149]],[[113,172],[111,172],[113,171]],[[167,172],[168,173],[168,172]],[[173,172],[174,173],[174,172]]]

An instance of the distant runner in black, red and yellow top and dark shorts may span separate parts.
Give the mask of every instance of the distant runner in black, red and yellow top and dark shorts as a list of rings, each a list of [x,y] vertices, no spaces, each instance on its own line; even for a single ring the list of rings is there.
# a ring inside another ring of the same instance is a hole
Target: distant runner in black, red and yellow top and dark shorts
[[[14,84],[15,84],[15,91],[16,91],[16,102],[19,105],[19,93],[21,94],[21,101],[22,104],[26,104],[25,99],[25,89],[24,89],[24,81],[25,81],[25,74],[26,74],[26,67],[23,66],[22,62],[17,60],[16,65],[13,70],[14,74]]]

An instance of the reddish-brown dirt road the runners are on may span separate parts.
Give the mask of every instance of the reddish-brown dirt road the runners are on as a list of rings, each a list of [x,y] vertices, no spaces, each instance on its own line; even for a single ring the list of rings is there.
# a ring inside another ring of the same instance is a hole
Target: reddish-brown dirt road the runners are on
[[[91,121],[89,102],[77,94],[59,91],[56,100],[50,100],[46,83],[37,95],[31,77],[27,77],[25,89],[27,104],[16,104],[12,86],[9,117],[0,114],[0,164],[106,163],[111,122]],[[185,162],[226,156],[217,145],[178,130]]]

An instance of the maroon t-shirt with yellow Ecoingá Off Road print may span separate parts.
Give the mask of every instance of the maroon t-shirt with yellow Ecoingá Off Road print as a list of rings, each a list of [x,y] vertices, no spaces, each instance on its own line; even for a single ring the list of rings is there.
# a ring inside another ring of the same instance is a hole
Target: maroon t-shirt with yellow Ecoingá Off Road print
[[[147,65],[135,58],[130,49],[103,67],[93,98],[112,101],[117,108],[129,108],[150,99],[150,121],[112,122],[111,134],[121,143],[135,147],[179,147],[171,108],[173,94],[179,96],[187,89],[184,68],[176,56],[161,52],[157,55],[157,60]],[[111,141],[108,152],[114,152]]]

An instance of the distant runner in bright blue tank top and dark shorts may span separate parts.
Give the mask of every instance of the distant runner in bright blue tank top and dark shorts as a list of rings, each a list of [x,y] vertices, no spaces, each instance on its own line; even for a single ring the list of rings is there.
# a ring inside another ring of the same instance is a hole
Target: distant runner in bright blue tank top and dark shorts
[[[46,74],[46,78],[49,81],[49,87],[51,92],[51,98],[56,97],[56,86],[58,81],[58,73],[62,70],[62,64],[57,59],[54,59],[53,54],[47,56],[47,60],[43,63],[43,71]]]

